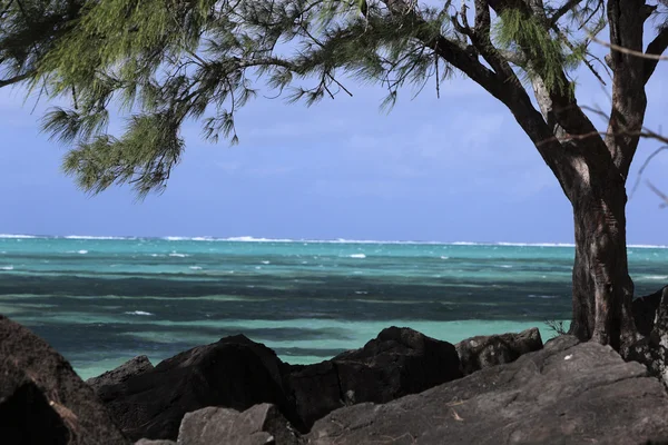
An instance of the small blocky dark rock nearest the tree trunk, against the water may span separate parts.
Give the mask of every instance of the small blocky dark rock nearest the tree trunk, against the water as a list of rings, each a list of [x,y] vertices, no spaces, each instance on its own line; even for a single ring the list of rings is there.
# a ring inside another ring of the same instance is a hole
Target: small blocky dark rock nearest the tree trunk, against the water
[[[538,328],[519,334],[503,334],[466,338],[455,345],[462,373],[469,375],[490,366],[517,360],[521,355],[542,348]]]

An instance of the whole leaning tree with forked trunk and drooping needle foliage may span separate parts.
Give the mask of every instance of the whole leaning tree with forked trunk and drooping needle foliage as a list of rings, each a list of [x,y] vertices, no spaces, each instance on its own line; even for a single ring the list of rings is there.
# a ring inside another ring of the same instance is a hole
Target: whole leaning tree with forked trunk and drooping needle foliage
[[[344,79],[373,81],[392,106],[405,83],[435,79],[438,90],[462,72],[510,110],[572,204],[571,334],[617,349],[636,339],[626,181],[652,56],[668,46],[664,22],[644,47],[646,22],[665,20],[666,0],[463,0],[459,9],[450,0],[81,1],[75,19],[59,16],[56,28],[65,31],[47,28],[33,44],[16,42],[36,22],[37,12],[21,4],[49,16],[78,3],[4,0],[0,68],[69,99],[71,107],[50,111],[43,127],[72,145],[63,166],[84,189],[159,190],[183,155],[181,123],[199,120],[207,139],[237,142],[235,111],[259,85],[312,105],[350,93]],[[605,30],[612,49],[602,62],[590,44]],[[578,66],[601,82],[599,70],[611,71],[602,134],[578,105]],[[120,137],[106,134],[111,103],[130,115]]]

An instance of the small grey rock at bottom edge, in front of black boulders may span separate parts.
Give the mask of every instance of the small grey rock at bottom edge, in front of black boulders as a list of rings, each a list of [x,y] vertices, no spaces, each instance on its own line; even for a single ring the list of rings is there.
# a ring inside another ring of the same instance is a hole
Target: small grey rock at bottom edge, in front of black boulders
[[[178,443],[188,445],[298,445],[298,433],[271,404],[255,405],[243,413],[208,407],[185,415]]]

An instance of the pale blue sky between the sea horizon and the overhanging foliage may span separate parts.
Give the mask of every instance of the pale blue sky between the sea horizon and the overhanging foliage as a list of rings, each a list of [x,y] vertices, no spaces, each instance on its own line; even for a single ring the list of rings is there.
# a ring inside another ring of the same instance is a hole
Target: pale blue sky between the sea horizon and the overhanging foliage
[[[668,66],[648,86],[647,125],[668,109]],[[39,131],[47,108],[0,89],[0,234],[255,236],[310,239],[571,243],[572,215],[557,180],[510,112],[463,78],[409,90],[386,115],[380,87],[306,108],[262,96],[237,117],[239,146],[187,149],[167,190],[137,202],[129,189],[96,197],[60,171],[66,148]],[[591,76],[579,102],[609,108]],[[593,118],[598,123],[601,121]],[[668,132],[668,130],[666,130]],[[629,188],[658,147],[644,141]],[[668,191],[668,152],[645,178]],[[628,205],[631,244],[668,245],[668,210],[641,185]]]

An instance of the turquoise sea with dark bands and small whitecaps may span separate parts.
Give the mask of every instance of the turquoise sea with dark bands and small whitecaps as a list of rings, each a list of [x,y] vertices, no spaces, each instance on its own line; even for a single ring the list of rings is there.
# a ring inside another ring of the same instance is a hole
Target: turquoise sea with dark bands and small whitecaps
[[[459,342],[570,317],[571,246],[0,236],[0,313],[82,377],[243,333],[289,363],[390,325]],[[630,247],[638,295],[668,249]]]

